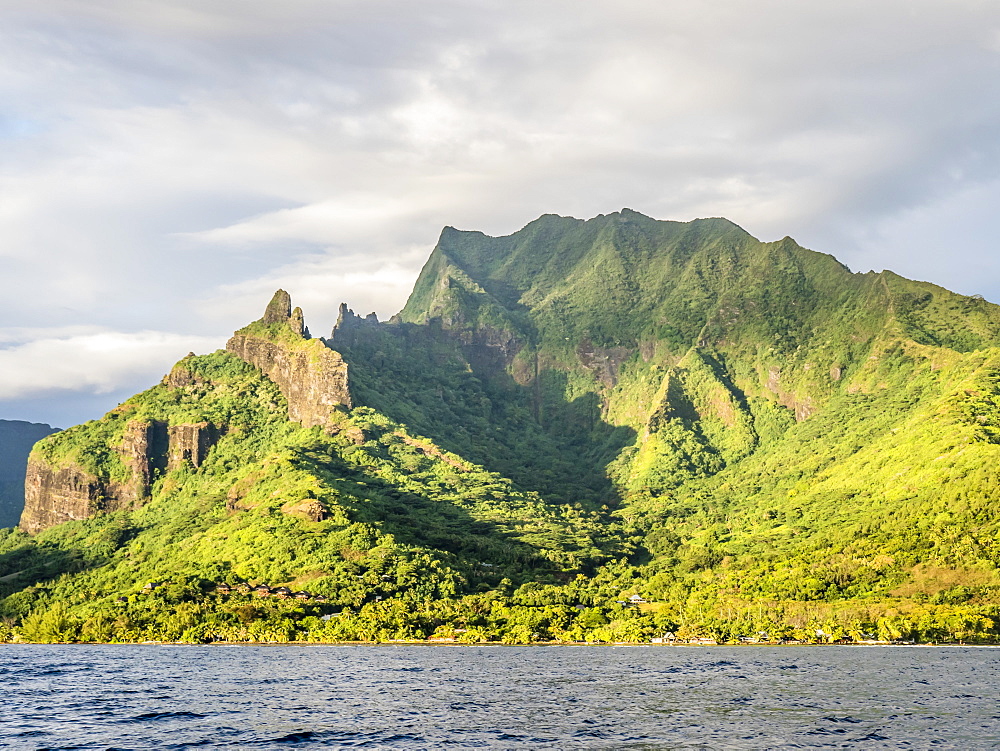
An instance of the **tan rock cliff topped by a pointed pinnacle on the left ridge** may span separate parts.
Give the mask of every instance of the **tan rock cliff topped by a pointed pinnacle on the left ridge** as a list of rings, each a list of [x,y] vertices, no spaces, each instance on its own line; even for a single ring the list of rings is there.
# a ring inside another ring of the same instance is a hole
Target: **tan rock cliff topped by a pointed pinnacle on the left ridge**
[[[310,339],[302,311],[284,290],[264,317],[237,331],[226,350],[260,369],[288,400],[288,418],[305,427],[330,424],[337,407],[351,407],[347,363],[322,339]]]

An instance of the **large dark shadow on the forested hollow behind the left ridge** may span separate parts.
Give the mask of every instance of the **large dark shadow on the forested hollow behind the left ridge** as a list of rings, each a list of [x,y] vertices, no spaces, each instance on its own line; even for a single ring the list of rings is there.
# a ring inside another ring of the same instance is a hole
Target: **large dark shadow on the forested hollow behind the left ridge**
[[[566,373],[530,374],[522,385],[501,347],[463,342],[435,326],[358,326],[338,331],[330,344],[348,362],[356,404],[546,501],[617,504],[607,466],[636,433],[605,422],[597,394],[568,398]]]

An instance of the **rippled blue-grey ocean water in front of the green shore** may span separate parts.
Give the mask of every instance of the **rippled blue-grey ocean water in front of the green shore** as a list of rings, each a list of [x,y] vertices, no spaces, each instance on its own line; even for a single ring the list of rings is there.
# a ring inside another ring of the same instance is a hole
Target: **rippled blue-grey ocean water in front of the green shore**
[[[0,645],[13,749],[1000,747],[1000,649]]]

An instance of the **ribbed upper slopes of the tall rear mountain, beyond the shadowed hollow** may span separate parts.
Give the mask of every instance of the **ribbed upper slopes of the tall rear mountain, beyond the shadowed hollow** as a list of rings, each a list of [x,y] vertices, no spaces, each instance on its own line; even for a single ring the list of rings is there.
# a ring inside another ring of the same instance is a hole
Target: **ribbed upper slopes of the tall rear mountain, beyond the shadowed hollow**
[[[1000,308],[983,300],[852,274],[725,220],[630,211],[546,216],[504,238],[445,230],[399,318],[439,327],[476,376],[521,384],[554,438],[578,428],[596,450],[617,429],[625,450],[606,469],[626,502],[773,450],[807,418],[898,400],[912,379],[914,405],[943,395],[963,354],[1000,343]],[[491,342],[505,360],[492,370],[475,352]],[[598,414],[567,420],[579,402]]]

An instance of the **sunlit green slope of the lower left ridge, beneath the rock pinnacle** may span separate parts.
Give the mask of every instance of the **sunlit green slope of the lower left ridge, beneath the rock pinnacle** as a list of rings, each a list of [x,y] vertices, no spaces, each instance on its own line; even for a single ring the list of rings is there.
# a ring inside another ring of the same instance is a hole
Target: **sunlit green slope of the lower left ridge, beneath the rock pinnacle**
[[[234,340],[251,335],[283,357],[318,343],[266,318]],[[274,381],[218,352],[39,445],[39,474],[72,470],[118,497],[33,537],[0,533],[4,616],[42,640],[373,638],[428,601],[567,581],[620,547],[594,514],[520,491],[370,408],[312,428],[288,412]],[[137,462],[137,426],[162,426],[171,444],[150,440]],[[179,456],[177,428],[192,426],[213,426],[212,445]],[[308,596],[212,594],[244,581]]]

